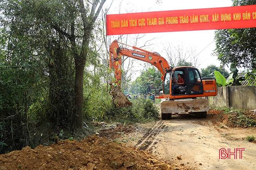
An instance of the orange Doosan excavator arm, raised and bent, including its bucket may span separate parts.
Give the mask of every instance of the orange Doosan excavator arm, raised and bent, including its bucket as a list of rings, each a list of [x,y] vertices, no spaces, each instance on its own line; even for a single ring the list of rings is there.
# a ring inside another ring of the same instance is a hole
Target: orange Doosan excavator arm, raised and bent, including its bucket
[[[160,56],[158,53],[150,52],[144,49],[140,49],[136,46],[130,46],[132,49],[126,49],[120,47],[119,44],[123,44],[114,40],[109,47],[109,67],[110,69],[114,69],[115,78],[113,82],[110,82],[112,90],[110,92],[113,95],[113,101],[117,105],[117,107],[129,107],[132,105],[127,97],[122,93],[121,90],[121,80],[122,80],[122,56],[127,56],[131,58],[135,58],[140,61],[144,61],[150,63],[157,67],[157,69],[161,72],[161,79],[164,81],[164,75],[167,70],[170,69],[170,66],[165,58]],[[129,46],[127,44],[124,44]],[[112,83],[116,83],[117,87],[114,88]]]

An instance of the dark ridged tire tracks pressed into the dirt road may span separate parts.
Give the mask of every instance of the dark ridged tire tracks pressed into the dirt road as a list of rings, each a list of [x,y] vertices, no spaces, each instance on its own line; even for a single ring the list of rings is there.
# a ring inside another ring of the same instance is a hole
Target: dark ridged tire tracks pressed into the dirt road
[[[136,148],[151,151],[152,148],[149,148],[152,143],[153,145],[157,144],[157,141],[154,141],[155,136],[160,133],[161,129],[165,127],[164,121],[157,121],[157,123],[149,129],[144,136],[137,142],[135,145]]]

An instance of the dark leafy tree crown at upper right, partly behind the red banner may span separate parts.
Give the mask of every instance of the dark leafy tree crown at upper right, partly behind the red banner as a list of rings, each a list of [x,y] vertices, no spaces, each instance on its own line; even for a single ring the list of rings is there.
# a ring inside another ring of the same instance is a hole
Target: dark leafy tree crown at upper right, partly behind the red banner
[[[256,0],[234,0],[233,5],[255,5]],[[215,32],[214,53],[223,65],[256,69],[256,28],[220,29]]]

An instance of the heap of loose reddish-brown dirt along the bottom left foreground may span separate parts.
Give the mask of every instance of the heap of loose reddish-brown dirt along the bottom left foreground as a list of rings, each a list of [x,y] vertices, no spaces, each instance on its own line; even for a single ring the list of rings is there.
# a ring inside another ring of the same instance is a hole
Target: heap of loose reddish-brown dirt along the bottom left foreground
[[[184,165],[161,163],[157,158],[134,146],[115,143],[88,136],[58,141],[50,146],[39,145],[35,149],[26,146],[21,151],[0,155],[0,170],[190,170]]]

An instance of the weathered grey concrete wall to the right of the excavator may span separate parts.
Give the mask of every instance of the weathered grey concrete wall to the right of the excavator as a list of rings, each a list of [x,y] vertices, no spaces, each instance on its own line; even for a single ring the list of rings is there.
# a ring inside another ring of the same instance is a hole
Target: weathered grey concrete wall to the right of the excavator
[[[256,109],[256,86],[227,86],[218,87],[217,95],[209,97],[211,107],[234,107]]]

